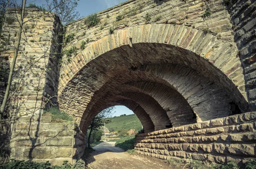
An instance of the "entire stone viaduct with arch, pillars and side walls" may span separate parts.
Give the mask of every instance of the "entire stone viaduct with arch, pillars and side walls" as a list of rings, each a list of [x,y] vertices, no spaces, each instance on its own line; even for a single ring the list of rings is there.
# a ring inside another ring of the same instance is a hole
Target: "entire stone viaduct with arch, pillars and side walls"
[[[96,26],[83,18],[62,27],[53,14],[27,22],[9,101],[11,117],[23,115],[11,124],[11,157],[81,157],[93,117],[124,105],[143,124],[134,145],[141,154],[256,158],[255,9],[255,0],[128,0],[97,13]],[[17,22],[3,27],[2,69],[17,31]],[[76,122],[42,116],[49,102]]]

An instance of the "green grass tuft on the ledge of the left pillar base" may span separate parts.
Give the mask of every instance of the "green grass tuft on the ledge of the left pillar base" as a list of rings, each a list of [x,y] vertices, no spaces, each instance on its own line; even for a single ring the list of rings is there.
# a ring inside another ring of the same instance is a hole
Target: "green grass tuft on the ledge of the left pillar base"
[[[59,120],[64,120],[64,121],[73,121],[73,117],[67,115],[65,112],[61,112],[58,108],[56,107],[51,107],[48,109],[44,115],[51,115],[53,121],[59,121]]]

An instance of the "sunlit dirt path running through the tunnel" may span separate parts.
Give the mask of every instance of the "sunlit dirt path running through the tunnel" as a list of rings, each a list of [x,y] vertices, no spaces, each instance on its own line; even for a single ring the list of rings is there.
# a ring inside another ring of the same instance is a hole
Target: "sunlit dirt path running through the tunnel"
[[[89,169],[175,169],[163,160],[143,155],[130,155],[123,149],[115,147],[115,142],[103,142],[93,149]],[[177,169],[177,168],[176,168]],[[179,168],[181,169],[181,168]]]

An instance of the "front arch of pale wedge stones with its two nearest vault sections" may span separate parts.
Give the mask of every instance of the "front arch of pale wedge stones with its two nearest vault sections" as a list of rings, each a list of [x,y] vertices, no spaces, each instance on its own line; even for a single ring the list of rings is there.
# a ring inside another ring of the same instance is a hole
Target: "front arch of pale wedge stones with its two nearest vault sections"
[[[147,72],[151,75],[145,81],[158,77],[155,82],[167,83],[201,120],[231,115],[234,105],[245,112],[247,97],[237,54],[232,43],[187,26],[155,24],[119,30],[90,44],[64,69],[58,89],[59,106],[82,120],[80,126],[84,128],[83,123],[88,122],[84,119],[91,118],[93,106],[114,92],[109,86],[128,83],[126,79],[140,81],[143,76],[136,73]],[[134,76],[129,75],[132,72]],[[100,93],[104,86],[108,89]]]

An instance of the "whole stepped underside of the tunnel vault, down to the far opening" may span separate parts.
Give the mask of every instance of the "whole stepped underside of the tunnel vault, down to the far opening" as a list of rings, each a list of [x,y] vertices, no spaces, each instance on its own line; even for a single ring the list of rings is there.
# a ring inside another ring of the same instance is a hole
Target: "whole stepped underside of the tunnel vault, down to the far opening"
[[[117,35],[111,35],[110,38],[113,40],[114,36]],[[91,53],[94,57],[86,66],[77,68],[79,71],[68,78],[62,90],[75,100],[86,97],[86,102],[73,112],[81,121],[81,128],[86,130],[91,118],[103,107],[115,105],[118,100],[133,100],[139,104],[150,116],[154,130],[246,111],[247,100],[240,88],[230,80],[230,74],[234,75],[226,71],[227,63],[218,58],[201,57],[201,53],[206,54],[207,50],[201,49],[199,46],[202,42],[198,41],[202,41],[200,37],[207,34],[200,32],[198,36],[186,47],[177,45],[177,41],[176,45],[140,42],[133,36],[130,41],[132,45],[109,46],[111,50],[102,54],[97,50],[93,52],[94,49],[104,51],[100,42],[90,50],[82,51],[79,58]],[[111,40],[108,38],[108,41]],[[216,41],[208,41],[209,46],[214,46]],[[214,54],[211,57],[222,57],[218,52]],[[218,68],[215,63],[223,68]],[[130,95],[131,92],[135,94]],[[84,96],[76,98],[78,93]],[[154,101],[148,101],[147,98]],[[65,102],[65,97],[60,100],[60,104],[63,104],[61,102]],[[64,104],[72,107],[73,103]],[[152,106],[158,108],[149,108]]]

